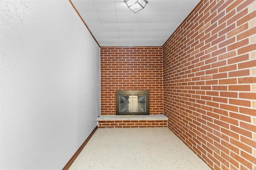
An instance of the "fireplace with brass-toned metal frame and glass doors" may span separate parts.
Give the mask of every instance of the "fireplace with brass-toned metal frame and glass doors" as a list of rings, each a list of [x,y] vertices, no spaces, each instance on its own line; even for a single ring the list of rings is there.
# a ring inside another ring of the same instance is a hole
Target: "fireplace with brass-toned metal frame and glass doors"
[[[117,90],[116,115],[149,115],[149,90]]]

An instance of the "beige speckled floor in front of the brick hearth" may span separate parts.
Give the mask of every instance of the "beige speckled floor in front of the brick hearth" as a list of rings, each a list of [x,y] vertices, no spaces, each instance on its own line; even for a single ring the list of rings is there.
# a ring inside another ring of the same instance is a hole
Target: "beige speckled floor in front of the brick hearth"
[[[210,170],[168,128],[98,128],[70,170]]]

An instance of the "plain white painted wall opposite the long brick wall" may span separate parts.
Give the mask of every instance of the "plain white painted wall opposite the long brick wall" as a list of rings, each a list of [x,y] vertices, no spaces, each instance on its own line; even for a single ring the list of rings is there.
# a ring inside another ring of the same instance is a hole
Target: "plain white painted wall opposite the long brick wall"
[[[68,0],[0,3],[0,169],[61,169],[97,125],[100,48]]]

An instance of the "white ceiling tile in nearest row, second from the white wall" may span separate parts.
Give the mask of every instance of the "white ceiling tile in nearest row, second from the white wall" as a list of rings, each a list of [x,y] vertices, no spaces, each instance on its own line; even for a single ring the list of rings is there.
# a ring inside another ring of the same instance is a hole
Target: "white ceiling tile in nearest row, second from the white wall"
[[[92,0],[96,12],[116,12],[114,0]]]

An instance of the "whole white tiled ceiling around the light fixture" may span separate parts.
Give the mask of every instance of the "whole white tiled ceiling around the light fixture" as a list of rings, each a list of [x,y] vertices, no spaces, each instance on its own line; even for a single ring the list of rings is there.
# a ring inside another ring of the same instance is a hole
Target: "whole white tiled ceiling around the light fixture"
[[[200,0],[148,0],[132,12],[124,0],[71,0],[100,45],[162,46]]]

